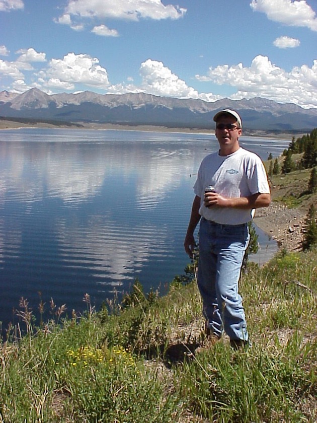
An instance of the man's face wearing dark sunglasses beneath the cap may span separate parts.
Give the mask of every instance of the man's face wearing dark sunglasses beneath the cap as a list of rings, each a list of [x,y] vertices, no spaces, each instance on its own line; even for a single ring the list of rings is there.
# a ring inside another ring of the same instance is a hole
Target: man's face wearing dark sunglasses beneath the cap
[[[222,125],[224,127],[222,127]],[[239,124],[233,116],[220,116],[216,122],[216,137],[218,139],[220,150],[221,148],[225,148],[226,150],[229,150],[230,153],[233,153],[239,149],[239,136],[241,133],[242,129],[239,128]]]

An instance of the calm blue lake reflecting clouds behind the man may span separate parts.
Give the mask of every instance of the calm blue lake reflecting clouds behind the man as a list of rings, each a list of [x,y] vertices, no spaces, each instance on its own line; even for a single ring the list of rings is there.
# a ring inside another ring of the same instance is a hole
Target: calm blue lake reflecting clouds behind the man
[[[290,140],[242,137],[266,160]],[[182,274],[183,240],[202,158],[214,135],[146,131],[0,131],[0,321],[21,297],[37,311],[98,309],[139,278],[148,292]],[[262,263],[277,250],[258,230]],[[48,312],[47,312],[48,313]],[[47,314],[47,316],[49,316]]]

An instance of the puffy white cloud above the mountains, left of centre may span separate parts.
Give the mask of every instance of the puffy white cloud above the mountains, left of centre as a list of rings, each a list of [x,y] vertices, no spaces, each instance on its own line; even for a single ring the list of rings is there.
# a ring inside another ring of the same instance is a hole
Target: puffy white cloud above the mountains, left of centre
[[[105,89],[109,85],[107,70],[98,63],[88,54],[68,53],[62,59],[51,59],[39,76],[55,87],[70,83]]]

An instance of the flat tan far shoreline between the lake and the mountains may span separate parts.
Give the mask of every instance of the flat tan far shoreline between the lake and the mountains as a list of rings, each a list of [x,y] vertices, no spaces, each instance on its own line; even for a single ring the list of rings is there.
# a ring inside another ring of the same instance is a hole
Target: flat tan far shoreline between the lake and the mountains
[[[156,126],[156,125],[120,125],[114,123],[87,123],[87,122],[78,122],[78,123],[66,123],[55,125],[46,122],[36,122],[36,123],[23,123],[13,120],[0,120],[0,130],[6,129],[23,129],[23,128],[34,128],[34,129],[43,129],[43,128],[52,128],[52,129],[94,129],[94,130],[126,130],[126,131],[147,131],[147,132],[179,132],[179,133],[205,133],[214,135],[214,129],[207,128],[185,128],[185,127],[167,127],[167,126]],[[293,133],[274,133],[266,132],[263,130],[246,130],[243,132],[245,136],[255,136],[259,138],[274,138],[274,139],[289,139],[291,141],[292,137],[300,137],[305,135],[305,133],[299,133],[294,135]]]

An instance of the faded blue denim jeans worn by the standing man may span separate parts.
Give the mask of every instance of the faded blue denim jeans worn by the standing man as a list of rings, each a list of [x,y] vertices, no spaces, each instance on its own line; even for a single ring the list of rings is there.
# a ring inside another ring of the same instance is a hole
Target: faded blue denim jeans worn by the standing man
[[[245,311],[238,293],[250,240],[248,224],[221,225],[202,218],[199,228],[198,288],[203,315],[217,336],[248,341]]]

